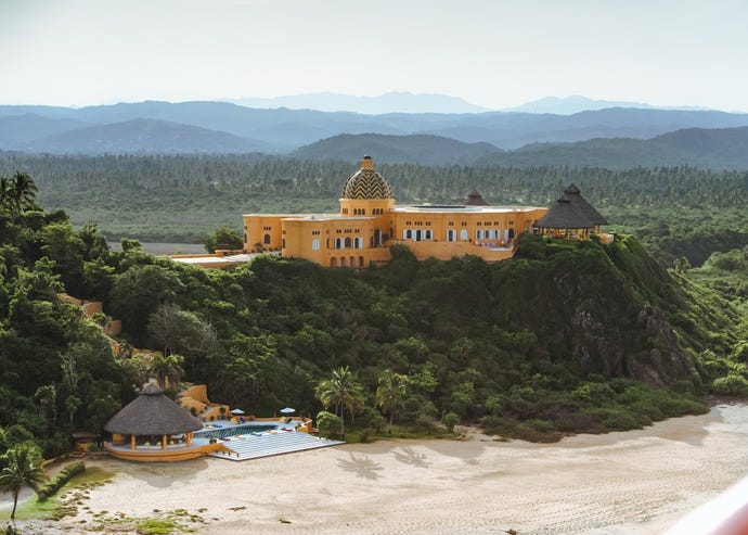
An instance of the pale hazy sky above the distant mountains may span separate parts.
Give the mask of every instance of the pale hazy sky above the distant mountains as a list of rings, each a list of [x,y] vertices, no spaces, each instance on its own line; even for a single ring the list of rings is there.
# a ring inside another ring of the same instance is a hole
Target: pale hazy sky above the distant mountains
[[[0,104],[307,92],[748,111],[746,0],[0,0]]]

